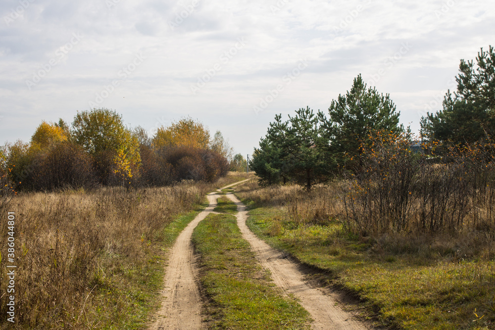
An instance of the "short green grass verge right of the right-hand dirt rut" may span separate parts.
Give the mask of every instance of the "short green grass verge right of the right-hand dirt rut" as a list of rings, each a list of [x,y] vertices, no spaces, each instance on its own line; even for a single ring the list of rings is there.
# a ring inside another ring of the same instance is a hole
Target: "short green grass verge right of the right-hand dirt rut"
[[[296,226],[283,210],[249,211],[248,227],[270,245],[326,270],[329,279],[365,299],[382,325],[399,329],[495,329],[495,264],[453,262],[442,254],[380,251],[349,236],[338,222]],[[477,315],[477,316],[476,316]]]

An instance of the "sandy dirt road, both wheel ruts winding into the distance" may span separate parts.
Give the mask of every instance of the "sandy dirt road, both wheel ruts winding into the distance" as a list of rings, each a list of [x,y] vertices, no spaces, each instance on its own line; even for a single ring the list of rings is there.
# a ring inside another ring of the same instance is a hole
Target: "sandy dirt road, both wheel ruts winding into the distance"
[[[221,189],[238,185],[244,181]],[[168,265],[165,269],[165,287],[162,291],[162,307],[158,312],[157,320],[150,326],[149,330],[196,330],[202,328],[201,297],[196,282],[191,236],[199,222],[213,211],[218,197],[219,195],[215,192],[208,194],[209,206],[182,231],[169,252]],[[257,238],[246,226],[246,206],[232,193],[228,193],[227,197],[237,204],[238,226],[243,237],[251,244],[261,265],[271,272],[273,281],[277,286],[300,299],[300,304],[311,314],[314,320],[313,329],[371,329],[352,320],[348,313],[337,306],[338,302],[331,294],[312,287],[304,280],[304,274],[299,271],[296,263]]]

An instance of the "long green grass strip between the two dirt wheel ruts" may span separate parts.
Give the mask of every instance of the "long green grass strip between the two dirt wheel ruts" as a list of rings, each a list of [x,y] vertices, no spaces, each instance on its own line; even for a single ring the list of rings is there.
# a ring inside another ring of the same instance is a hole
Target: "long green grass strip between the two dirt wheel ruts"
[[[274,288],[236,218],[210,214],[195,229],[210,329],[309,329],[308,313]]]

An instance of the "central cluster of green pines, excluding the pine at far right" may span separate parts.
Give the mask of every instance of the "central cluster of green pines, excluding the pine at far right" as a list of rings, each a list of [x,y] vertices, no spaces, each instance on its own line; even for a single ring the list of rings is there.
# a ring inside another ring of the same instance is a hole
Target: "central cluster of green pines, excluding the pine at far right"
[[[350,91],[333,100],[328,113],[300,108],[282,121],[276,115],[255,148],[250,168],[262,183],[294,181],[311,189],[331,178],[339,166],[358,170],[361,141],[374,130],[403,132],[389,94],[367,87],[361,75]]]

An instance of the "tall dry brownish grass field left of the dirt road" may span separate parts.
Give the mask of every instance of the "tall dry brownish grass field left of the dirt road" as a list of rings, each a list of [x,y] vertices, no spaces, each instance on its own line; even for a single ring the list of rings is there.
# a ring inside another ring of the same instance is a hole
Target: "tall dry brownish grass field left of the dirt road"
[[[222,178],[219,185],[238,180]],[[166,227],[216,184],[24,193],[15,212],[15,329],[140,329],[156,305]],[[3,217],[5,218],[5,216]],[[5,277],[7,224],[0,232]],[[6,292],[6,282],[1,292]],[[156,295],[157,296],[157,295]],[[6,315],[6,296],[0,298]],[[5,318],[0,325],[7,327]]]

